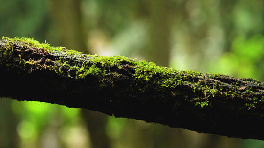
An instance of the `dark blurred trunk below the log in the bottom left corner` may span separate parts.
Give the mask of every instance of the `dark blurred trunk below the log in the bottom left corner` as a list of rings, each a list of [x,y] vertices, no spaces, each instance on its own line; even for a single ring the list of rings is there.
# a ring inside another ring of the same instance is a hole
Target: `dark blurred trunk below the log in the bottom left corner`
[[[0,148],[18,148],[18,118],[12,111],[11,99],[1,99],[0,103]]]

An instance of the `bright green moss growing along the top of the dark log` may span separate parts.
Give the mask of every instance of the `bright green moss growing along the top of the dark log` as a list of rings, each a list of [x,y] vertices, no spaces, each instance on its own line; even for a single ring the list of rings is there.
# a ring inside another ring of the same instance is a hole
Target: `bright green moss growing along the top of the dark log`
[[[206,79],[214,79],[219,78],[222,76],[221,74],[202,74],[197,71],[177,71],[172,68],[167,67],[160,67],[156,66],[156,64],[146,61],[136,61],[135,59],[127,58],[124,56],[98,56],[98,55],[85,55],[80,52],[74,51],[74,50],[68,50],[65,47],[52,47],[47,42],[45,43],[39,43],[38,41],[35,41],[33,38],[7,38],[3,37],[2,39],[7,40],[8,44],[6,45],[6,49],[3,52],[3,56],[7,56],[12,54],[12,43],[13,42],[22,42],[22,45],[24,47],[34,47],[34,49],[37,48],[37,50],[45,50],[48,53],[52,52],[64,52],[68,55],[77,55],[77,57],[83,59],[83,64],[76,63],[73,65],[73,63],[68,63],[66,61],[66,58],[59,58],[56,59],[55,65],[48,66],[45,68],[49,68],[50,70],[55,71],[56,74],[62,76],[62,77],[69,77],[73,79],[86,79],[87,77],[98,77],[100,79],[101,84],[105,85],[104,82],[113,83],[112,79],[119,78],[123,76],[123,74],[120,74],[123,72],[124,74],[130,75],[132,78],[134,78],[137,82],[143,83],[145,88],[147,88],[149,82],[150,84],[155,83],[160,90],[170,90],[170,94],[172,97],[177,97],[182,94],[182,92],[178,92],[178,90],[175,90],[177,86],[188,86],[193,89],[194,94],[198,94],[198,96],[195,96],[196,99],[187,99],[188,102],[192,102],[194,105],[199,106],[201,108],[205,106],[209,106],[212,98],[217,97],[216,95],[223,95],[227,96],[228,98],[234,98],[238,94],[231,90],[224,90],[221,88],[220,84],[215,81],[213,83],[207,83]],[[21,59],[22,56],[19,55],[19,58]],[[29,59],[28,61],[24,61],[24,67],[28,66],[31,68],[33,67],[43,67],[43,65],[38,64],[37,61],[34,61],[32,59]],[[71,72],[74,72],[74,74],[71,74]],[[199,80],[198,80],[198,78]],[[110,79],[109,79],[110,78]],[[239,84],[236,84],[236,87],[240,87]],[[169,89],[168,89],[169,88]],[[142,92],[144,92],[144,88],[141,88]],[[246,94],[250,94],[253,92],[252,88],[247,88],[245,91]],[[160,94],[162,95],[162,94]],[[200,97],[200,98],[198,98]],[[264,98],[260,99],[262,102],[264,102]],[[246,106],[248,108],[255,107],[255,101],[260,100],[254,100],[253,104],[250,102]]]

